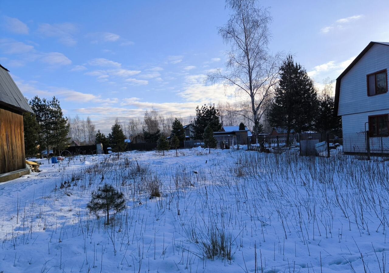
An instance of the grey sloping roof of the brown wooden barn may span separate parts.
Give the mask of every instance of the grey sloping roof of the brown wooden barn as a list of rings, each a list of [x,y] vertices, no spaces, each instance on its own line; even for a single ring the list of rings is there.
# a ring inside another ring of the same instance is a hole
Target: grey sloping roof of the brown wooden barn
[[[33,113],[26,98],[12,80],[9,70],[0,64],[0,104],[9,108]]]

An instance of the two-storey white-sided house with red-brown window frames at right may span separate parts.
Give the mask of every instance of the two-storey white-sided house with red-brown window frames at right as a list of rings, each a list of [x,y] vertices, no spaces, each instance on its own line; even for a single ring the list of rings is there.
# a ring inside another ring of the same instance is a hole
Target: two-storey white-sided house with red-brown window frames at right
[[[343,151],[389,153],[389,43],[370,42],[336,79],[335,113],[342,116]]]

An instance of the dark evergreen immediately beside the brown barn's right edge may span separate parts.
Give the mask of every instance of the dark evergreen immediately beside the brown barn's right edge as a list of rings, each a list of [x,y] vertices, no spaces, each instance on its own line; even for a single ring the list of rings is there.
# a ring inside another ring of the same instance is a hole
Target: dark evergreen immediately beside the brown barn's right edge
[[[25,139],[25,154],[26,156],[36,155],[38,152],[38,123],[35,115],[32,113],[23,113],[23,127]]]

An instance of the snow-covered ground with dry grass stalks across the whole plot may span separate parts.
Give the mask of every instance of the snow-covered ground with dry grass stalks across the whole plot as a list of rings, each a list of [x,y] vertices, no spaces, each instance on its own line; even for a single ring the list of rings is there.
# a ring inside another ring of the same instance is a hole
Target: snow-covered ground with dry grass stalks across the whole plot
[[[387,161],[165,154],[40,160],[0,184],[0,272],[387,272]],[[110,226],[86,209],[104,183],[127,198]]]

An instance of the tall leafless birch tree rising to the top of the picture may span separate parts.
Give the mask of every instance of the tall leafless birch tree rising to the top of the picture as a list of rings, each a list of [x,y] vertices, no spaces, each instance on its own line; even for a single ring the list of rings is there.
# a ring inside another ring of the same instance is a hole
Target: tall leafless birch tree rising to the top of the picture
[[[231,10],[228,22],[219,28],[219,35],[231,46],[227,52],[227,73],[218,69],[209,73],[207,82],[223,82],[235,87],[237,93],[248,96],[250,104],[237,113],[251,120],[258,136],[260,120],[278,82],[281,53],[274,56],[268,48],[269,10],[257,5],[256,0],[226,0]]]

